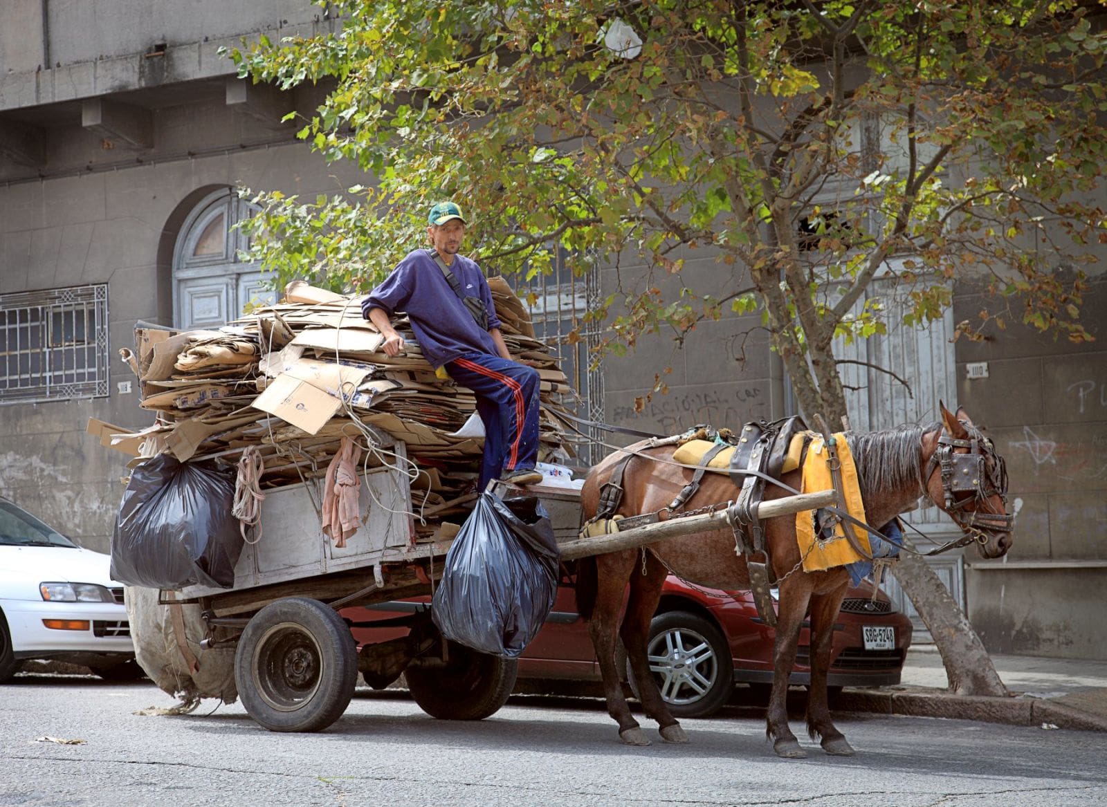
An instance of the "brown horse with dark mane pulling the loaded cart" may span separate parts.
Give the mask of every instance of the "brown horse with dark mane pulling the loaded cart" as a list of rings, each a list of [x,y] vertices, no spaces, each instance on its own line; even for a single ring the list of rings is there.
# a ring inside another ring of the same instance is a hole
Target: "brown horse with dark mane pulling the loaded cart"
[[[959,545],[975,541],[985,558],[999,558],[1011,547],[1011,517],[1004,511],[1006,474],[1003,458],[991,441],[969,420],[964,410],[956,416],[941,406],[942,422],[870,434],[847,434],[857,465],[867,520],[883,525],[908,509],[921,496],[948,513],[961,527]],[[649,447],[639,443],[624,449],[634,456],[623,474],[624,496],[618,508],[622,515],[664,510],[692,472],[672,462],[672,447]],[[970,456],[964,456],[970,455]],[[612,467],[624,456],[615,452],[597,465],[581,493],[586,518],[598,507],[600,487]],[[956,472],[956,473],[954,473]],[[971,485],[965,480],[971,479]],[[798,488],[799,473],[786,474],[782,482]],[[706,474],[689,509],[736,497],[736,488],[725,474]],[[768,485],[765,499],[787,492]],[[675,515],[675,514],[674,514]],[[834,623],[849,573],[845,567],[828,571],[793,573],[801,563],[796,542],[794,516],[763,523],[772,568],[779,586],[776,644],[773,653],[773,692],[767,713],[767,735],[783,757],[803,757],[796,736],[788,727],[785,706],[788,674],[804,618],[810,614],[810,687],[807,699],[807,728],[814,739],[821,737],[828,754],[853,753],[830,718],[827,703],[827,669]],[[578,567],[577,598],[580,612],[589,619],[589,632],[608,701],[608,713],[619,723],[619,736],[630,745],[649,745],[645,734],[631,716],[622,693],[615,664],[617,634],[622,638],[631,671],[639,684],[642,706],[658,721],[661,736],[672,743],[687,742],[680,723],[669,712],[650,672],[646,637],[656,610],[661,586],[670,571],[693,583],[735,590],[749,588],[746,561],[735,552],[730,529],[669,538],[644,549],[629,549],[583,559]],[[627,587],[625,615],[620,619]]]

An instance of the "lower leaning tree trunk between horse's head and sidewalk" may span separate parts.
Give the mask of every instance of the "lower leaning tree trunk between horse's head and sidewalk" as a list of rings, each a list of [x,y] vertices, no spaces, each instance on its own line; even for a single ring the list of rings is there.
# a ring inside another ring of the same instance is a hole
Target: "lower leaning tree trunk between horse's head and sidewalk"
[[[913,549],[906,536],[903,546]],[[976,631],[927,561],[903,551],[892,569],[942,654],[950,690],[959,695],[1007,695]]]

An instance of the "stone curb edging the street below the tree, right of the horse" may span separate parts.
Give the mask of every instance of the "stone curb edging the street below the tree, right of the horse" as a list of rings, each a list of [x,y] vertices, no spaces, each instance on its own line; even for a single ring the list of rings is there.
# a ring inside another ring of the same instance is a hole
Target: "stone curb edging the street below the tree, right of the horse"
[[[1107,732],[1107,716],[1036,697],[954,695],[949,692],[872,692],[844,690],[832,708],[841,712],[899,714],[911,717],[1004,723],[1013,726],[1049,724],[1057,728]]]

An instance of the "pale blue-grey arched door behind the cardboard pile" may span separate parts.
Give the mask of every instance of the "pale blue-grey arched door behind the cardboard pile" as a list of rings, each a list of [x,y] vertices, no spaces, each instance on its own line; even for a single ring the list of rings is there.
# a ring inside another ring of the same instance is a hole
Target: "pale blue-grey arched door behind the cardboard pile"
[[[246,234],[231,229],[255,210],[234,189],[220,188],[188,214],[173,250],[175,328],[218,328],[241,315],[247,303],[276,301],[257,263],[238,257],[249,247]]]

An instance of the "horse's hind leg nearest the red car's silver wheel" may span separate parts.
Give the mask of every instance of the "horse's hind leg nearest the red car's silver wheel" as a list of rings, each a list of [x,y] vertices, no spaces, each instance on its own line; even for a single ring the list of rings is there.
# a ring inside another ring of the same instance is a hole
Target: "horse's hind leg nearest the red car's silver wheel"
[[[643,551],[643,550],[640,550]],[[641,555],[639,556],[641,558]],[[627,659],[638,682],[642,707],[661,727],[661,738],[669,743],[686,743],[687,735],[681,724],[673,717],[669,706],[658,691],[658,683],[650,672],[650,661],[646,658],[646,643],[650,635],[650,622],[658,610],[661,600],[661,587],[665,582],[668,570],[654,557],[645,553],[645,567],[635,565],[630,575],[630,598],[627,600],[627,614],[623,617],[619,633],[627,648]],[[645,572],[644,575],[642,572]]]

